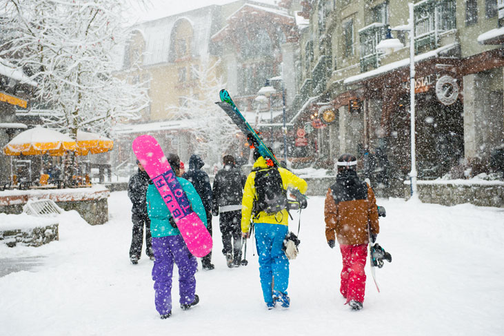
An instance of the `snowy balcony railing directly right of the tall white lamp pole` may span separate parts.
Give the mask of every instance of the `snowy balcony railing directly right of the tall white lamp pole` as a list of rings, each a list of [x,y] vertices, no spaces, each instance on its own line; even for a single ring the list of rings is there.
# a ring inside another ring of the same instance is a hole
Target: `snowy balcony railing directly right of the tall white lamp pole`
[[[456,28],[455,0],[426,0],[414,7],[415,50],[439,48],[439,35]]]

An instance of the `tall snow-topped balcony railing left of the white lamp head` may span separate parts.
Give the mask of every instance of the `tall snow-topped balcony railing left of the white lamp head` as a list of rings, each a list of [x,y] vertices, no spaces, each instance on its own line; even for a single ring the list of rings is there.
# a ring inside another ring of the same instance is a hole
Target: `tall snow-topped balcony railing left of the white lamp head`
[[[359,30],[359,41],[361,43],[361,72],[376,69],[379,67],[379,52],[376,45],[385,39],[387,26],[385,23],[371,23]]]

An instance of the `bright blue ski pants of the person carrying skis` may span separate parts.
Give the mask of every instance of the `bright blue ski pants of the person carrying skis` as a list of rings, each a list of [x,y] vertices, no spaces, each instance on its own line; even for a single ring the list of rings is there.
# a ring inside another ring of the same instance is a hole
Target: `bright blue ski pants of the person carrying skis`
[[[272,289],[287,294],[289,259],[282,247],[289,228],[281,224],[268,223],[256,223],[254,226],[264,302],[272,302]]]

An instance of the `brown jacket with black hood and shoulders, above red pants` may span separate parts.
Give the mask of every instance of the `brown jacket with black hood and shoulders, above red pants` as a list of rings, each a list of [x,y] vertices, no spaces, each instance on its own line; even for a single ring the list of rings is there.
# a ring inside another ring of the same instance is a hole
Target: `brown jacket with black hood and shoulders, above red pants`
[[[380,232],[378,207],[370,186],[361,181],[354,170],[339,173],[336,183],[325,196],[325,238],[341,245],[360,245],[369,242],[367,223],[371,233]]]

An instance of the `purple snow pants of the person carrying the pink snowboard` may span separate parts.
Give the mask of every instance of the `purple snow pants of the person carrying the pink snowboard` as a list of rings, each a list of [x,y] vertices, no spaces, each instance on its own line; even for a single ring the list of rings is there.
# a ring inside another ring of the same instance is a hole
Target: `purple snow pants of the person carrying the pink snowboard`
[[[160,315],[168,314],[172,310],[172,275],[173,263],[179,268],[180,303],[194,302],[196,279],[194,273],[198,267],[194,257],[185,245],[181,235],[168,237],[152,237],[154,251],[154,267],[152,280],[156,292],[156,310]]]

